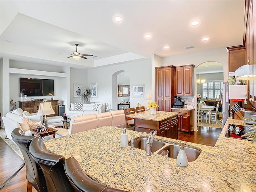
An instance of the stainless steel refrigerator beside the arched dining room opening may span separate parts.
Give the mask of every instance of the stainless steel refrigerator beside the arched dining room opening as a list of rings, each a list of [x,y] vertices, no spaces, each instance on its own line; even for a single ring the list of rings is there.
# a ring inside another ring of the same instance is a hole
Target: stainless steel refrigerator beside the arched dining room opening
[[[221,104],[222,104],[222,128],[224,127],[229,116],[229,93],[228,93],[228,82],[223,82],[221,90]]]

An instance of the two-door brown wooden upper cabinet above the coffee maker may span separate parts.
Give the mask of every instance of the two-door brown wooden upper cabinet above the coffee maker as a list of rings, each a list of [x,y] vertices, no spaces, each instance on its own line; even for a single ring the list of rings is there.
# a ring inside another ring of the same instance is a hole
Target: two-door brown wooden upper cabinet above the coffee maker
[[[194,96],[194,65],[179,66],[175,69],[175,95]]]

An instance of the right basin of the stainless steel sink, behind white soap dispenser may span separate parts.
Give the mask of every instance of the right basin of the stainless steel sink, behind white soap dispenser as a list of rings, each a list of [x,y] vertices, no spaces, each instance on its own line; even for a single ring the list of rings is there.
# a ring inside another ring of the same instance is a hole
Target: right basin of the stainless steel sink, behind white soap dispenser
[[[159,152],[157,154],[160,154],[163,150],[169,151],[168,157],[176,159],[178,156],[178,153],[180,151],[180,146],[169,144],[169,145],[165,146],[164,148],[161,148],[161,150],[159,150]],[[199,150],[188,148],[188,147],[185,147],[185,152],[186,152],[186,156],[188,158],[188,162],[192,162],[192,161],[196,160],[201,153]]]

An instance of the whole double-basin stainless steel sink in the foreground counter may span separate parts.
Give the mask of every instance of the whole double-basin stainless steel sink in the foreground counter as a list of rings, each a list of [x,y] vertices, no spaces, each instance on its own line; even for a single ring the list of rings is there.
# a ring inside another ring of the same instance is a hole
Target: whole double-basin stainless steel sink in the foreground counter
[[[146,141],[147,138],[136,139],[134,140],[134,147],[146,151]],[[128,145],[131,146],[131,143],[129,143]],[[180,151],[180,145],[174,145],[154,140],[151,152],[155,154],[160,154],[163,152],[163,150],[168,150],[168,157],[176,159]],[[201,153],[199,150],[188,147],[185,147],[185,152],[188,158],[188,162],[195,161]]]

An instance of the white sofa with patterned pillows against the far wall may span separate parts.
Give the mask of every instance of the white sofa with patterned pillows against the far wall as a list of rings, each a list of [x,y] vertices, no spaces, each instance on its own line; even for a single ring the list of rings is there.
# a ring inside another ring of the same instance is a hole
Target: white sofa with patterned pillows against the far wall
[[[105,103],[70,103],[70,108],[67,108],[68,118],[76,114],[99,114],[104,113],[106,109]]]

